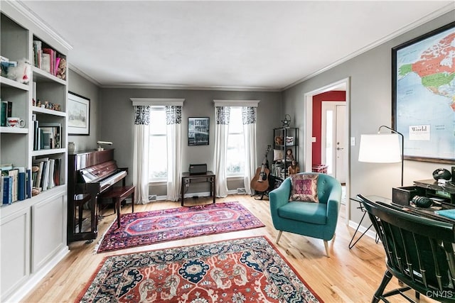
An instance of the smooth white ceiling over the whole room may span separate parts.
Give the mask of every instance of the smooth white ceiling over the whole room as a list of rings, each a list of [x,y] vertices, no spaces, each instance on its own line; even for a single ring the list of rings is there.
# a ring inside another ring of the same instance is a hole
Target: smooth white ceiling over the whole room
[[[21,1],[100,87],[281,90],[454,1]]]

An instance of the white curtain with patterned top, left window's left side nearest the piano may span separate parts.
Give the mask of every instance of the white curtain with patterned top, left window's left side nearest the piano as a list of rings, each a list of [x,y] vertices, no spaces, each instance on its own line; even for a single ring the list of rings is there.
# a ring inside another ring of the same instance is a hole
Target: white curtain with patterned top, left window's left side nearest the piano
[[[133,184],[138,204],[149,203],[149,123],[150,106],[134,106]],[[134,203],[134,202],[132,202]]]

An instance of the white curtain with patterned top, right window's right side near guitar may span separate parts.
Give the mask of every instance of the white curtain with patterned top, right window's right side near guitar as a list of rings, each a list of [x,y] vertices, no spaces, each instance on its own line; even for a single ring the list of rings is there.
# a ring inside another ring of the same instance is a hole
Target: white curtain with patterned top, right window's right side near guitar
[[[255,106],[242,106],[243,140],[245,145],[245,175],[244,185],[247,194],[254,194],[251,180],[255,177],[256,150],[256,110]]]

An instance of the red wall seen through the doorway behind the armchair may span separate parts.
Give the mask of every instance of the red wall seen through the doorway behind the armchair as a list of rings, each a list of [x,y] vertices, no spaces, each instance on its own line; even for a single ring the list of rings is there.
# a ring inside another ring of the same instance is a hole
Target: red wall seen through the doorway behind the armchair
[[[345,91],[323,92],[313,96],[313,137],[316,137],[316,142],[313,143],[313,165],[321,163],[321,116],[322,116],[322,101],[346,101]]]

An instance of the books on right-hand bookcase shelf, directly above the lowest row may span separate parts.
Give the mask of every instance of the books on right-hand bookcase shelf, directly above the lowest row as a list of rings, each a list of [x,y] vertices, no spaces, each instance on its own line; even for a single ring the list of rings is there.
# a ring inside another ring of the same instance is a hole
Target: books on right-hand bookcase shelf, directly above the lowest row
[[[58,122],[33,121],[33,150],[61,148],[62,125]]]

